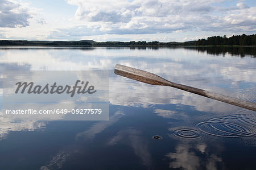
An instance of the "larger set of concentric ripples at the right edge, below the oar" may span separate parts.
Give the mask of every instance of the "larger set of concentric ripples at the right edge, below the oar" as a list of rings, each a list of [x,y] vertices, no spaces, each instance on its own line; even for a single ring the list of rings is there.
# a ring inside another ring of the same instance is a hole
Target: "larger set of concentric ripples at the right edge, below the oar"
[[[205,134],[236,138],[241,136],[255,137],[256,115],[229,115],[226,117],[217,117],[208,121],[197,123],[197,127]]]

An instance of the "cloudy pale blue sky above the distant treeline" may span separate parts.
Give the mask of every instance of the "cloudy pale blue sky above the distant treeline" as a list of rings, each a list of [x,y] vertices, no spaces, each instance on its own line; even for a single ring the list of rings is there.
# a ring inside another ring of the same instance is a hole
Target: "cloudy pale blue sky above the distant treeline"
[[[255,33],[255,0],[0,0],[2,40],[185,42]]]

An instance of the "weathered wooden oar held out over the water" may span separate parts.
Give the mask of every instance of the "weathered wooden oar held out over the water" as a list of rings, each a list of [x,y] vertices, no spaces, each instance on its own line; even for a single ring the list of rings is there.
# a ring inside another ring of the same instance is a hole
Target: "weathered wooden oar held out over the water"
[[[187,92],[199,94],[204,97],[216,99],[218,101],[222,101],[225,103],[229,103],[231,105],[240,106],[246,109],[250,109],[256,111],[256,104],[252,102],[243,101],[238,98],[233,98],[229,96],[224,96],[222,94],[217,94],[213,92],[208,92],[207,90],[202,90],[198,88],[193,88],[191,86],[186,86],[182,84],[176,84],[175,82],[168,81],[156,74],[142,71],[140,69],[127,67],[125,65],[117,64],[115,65],[115,74],[118,74],[123,77],[131,78],[133,80],[145,82],[147,84],[152,85],[163,85],[163,86],[171,86],[177,89],[185,90]]]

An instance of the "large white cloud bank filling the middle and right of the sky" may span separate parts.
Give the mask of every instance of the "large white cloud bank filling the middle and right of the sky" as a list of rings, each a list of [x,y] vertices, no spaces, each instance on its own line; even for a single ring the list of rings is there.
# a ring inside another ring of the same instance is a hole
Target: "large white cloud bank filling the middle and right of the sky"
[[[75,18],[84,23],[65,28],[67,34],[77,27],[81,35],[102,34],[155,34],[176,31],[255,31],[255,7],[244,2],[225,10],[213,3],[222,1],[81,1],[69,0],[77,5]],[[94,30],[90,28],[94,24]],[[245,28],[247,26],[248,28]],[[61,30],[60,28],[58,30]],[[54,32],[52,32],[54,36]],[[68,34],[71,35],[72,34]]]

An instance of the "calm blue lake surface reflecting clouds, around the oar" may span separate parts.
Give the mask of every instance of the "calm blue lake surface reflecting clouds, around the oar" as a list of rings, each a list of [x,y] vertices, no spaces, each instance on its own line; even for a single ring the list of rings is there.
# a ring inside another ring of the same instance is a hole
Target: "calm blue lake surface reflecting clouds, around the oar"
[[[2,81],[3,71],[109,72],[109,121],[15,121],[1,112],[0,169],[254,169],[255,111],[114,67],[255,103],[255,49],[0,47]]]

